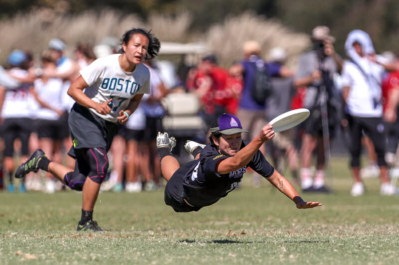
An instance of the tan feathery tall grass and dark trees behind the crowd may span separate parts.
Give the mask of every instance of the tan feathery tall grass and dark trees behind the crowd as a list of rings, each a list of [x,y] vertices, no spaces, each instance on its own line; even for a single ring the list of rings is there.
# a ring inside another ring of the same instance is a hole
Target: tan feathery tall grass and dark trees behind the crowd
[[[255,39],[265,55],[283,47],[294,67],[320,24],[331,28],[341,55],[355,28],[370,34],[377,52],[399,52],[396,0],[0,0],[0,7],[1,64],[13,49],[40,54],[52,37],[71,44],[72,53],[82,39],[96,44],[137,26],[164,42],[204,43],[223,66],[239,60],[242,43]]]

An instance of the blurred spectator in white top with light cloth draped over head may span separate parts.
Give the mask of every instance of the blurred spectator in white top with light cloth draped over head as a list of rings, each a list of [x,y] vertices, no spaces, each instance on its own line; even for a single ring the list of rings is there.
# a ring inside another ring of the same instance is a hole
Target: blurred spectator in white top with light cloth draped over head
[[[383,121],[381,81],[384,67],[376,63],[372,40],[366,32],[353,30],[348,34],[345,51],[350,57],[343,69],[343,98],[348,110],[348,126],[351,134],[351,167],[354,185],[352,196],[363,195],[364,185],[360,177],[361,137],[364,131],[373,141],[380,167],[382,195],[395,194],[388,178],[386,128]]]

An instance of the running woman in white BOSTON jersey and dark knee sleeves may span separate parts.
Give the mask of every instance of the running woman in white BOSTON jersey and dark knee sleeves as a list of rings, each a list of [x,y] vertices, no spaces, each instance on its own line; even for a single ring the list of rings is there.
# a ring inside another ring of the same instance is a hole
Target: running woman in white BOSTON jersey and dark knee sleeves
[[[21,164],[15,177],[42,169],[74,190],[83,191],[82,215],[77,230],[102,231],[93,221],[93,209],[108,169],[107,152],[117,132],[117,122],[126,124],[143,94],[150,92],[150,73],[143,60],[154,58],[159,40],[150,31],[133,28],[123,35],[122,54],[95,60],[80,71],[68,89],[76,103],[68,124],[76,158],[75,169],[50,161],[37,149]],[[83,90],[85,90],[83,92]]]

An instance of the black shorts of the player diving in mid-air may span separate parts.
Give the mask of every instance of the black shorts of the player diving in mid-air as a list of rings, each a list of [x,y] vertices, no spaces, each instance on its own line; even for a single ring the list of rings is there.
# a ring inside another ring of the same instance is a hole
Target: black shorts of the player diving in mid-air
[[[181,168],[179,168],[181,169]],[[187,213],[193,211],[199,211],[201,207],[193,207],[188,205],[184,201],[184,174],[177,170],[171,177],[171,179],[166,183],[165,186],[165,203],[166,205],[172,206],[173,210],[178,213]],[[184,172],[182,172],[184,173]]]

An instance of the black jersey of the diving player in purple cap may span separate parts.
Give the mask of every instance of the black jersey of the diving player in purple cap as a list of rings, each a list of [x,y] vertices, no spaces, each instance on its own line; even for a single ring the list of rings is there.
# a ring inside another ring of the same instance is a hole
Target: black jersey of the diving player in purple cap
[[[242,141],[240,149],[246,143]],[[188,203],[195,207],[204,207],[217,202],[237,187],[248,166],[263,177],[270,177],[274,172],[273,166],[258,150],[246,166],[227,174],[216,173],[216,164],[227,157],[207,144],[198,160],[187,163],[175,172],[184,178],[183,196]]]

